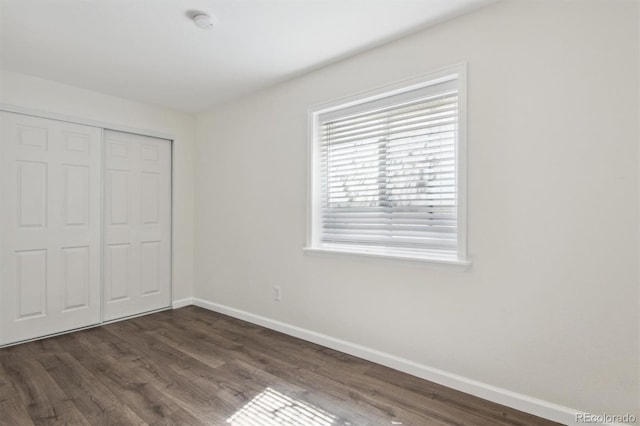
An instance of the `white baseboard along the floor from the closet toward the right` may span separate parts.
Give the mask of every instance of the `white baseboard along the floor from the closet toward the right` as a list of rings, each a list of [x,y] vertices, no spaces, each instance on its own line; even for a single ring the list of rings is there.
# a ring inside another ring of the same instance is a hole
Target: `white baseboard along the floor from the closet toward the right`
[[[174,302],[173,305],[174,307],[177,307],[177,305],[186,306],[188,304],[186,302],[187,300],[188,299],[178,300]],[[315,331],[306,330],[294,325],[255,315],[250,312],[231,308],[229,306],[220,305],[218,303],[209,302],[195,297],[192,298],[191,301],[194,305],[201,308],[229,315],[231,317],[276,330],[318,345],[326,346],[328,348],[363,358],[482,399],[514,408],[516,410],[524,411],[526,413],[567,425],[577,424],[576,414],[580,412],[579,410],[573,410],[548,401],[543,401],[527,395],[512,392],[507,389],[488,385],[457,374],[449,373],[447,371],[381,352],[376,349],[347,342],[321,333],[316,333]]]

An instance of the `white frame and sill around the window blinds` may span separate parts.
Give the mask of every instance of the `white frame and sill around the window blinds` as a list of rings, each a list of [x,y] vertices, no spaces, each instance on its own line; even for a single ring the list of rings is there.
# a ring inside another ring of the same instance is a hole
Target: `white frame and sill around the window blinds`
[[[467,72],[466,64],[459,64],[431,72],[426,75],[404,80],[398,83],[379,87],[372,91],[358,93],[346,98],[309,108],[309,156],[308,156],[308,205],[307,205],[307,245],[306,253],[336,254],[350,256],[366,256],[373,258],[399,259],[419,262],[434,262],[468,266],[471,264],[467,253]],[[428,88],[446,81],[456,81],[458,89],[458,134],[456,141],[456,230],[457,253],[455,256],[443,256],[426,250],[419,252],[401,252],[394,249],[388,251],[367,250],[366,247],[336,248],[323,247],[321,244],[321,176],[320,176],[320,116],[332,111],[343,111],[378,99],[385,99],[402,93]]]

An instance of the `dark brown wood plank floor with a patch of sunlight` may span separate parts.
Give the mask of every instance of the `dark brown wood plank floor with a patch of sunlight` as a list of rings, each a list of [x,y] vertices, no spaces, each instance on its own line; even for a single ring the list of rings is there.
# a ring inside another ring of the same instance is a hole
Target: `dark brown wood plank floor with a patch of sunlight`
[[[2,425],[551,425],[196,307],[0,350]]]

